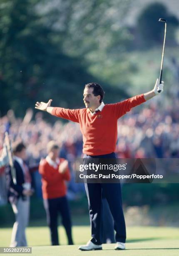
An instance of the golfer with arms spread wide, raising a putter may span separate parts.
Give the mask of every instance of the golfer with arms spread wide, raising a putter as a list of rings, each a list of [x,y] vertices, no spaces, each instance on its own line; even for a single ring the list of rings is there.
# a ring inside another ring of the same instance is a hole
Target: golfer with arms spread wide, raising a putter
[[[141,95],[131,97],[115,104],[105,104],[102,101],[104,91],[97,83],[85,85],[83,109],[65,109],[50,107],[52,100],[37,102],[35,108],[47,111],[60,118],[80,123],[83,135],[83,153],[85,158],[115,158],[117,142],[117,120],[129,112],[131,108],[149,100],[163,92],[164,83],[159,84],[157,79],[154,89]],[[101,242],[101,201],[102,191],[107,198],[116,231],[116,250],[125,249],[126,228],[122,210],[122,195],[120,183],[99,184],[85,183],[87,192],[92,239],[86,245],[80,246],[82,251],[102,250]]]

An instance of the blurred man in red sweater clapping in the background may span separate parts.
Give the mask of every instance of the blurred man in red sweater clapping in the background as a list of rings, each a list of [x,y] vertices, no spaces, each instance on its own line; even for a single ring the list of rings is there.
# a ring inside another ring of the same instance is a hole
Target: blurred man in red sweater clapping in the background
[[[58,212],[62,215],[62,224],[67,233],[68,244],[72,241],[72,224],[70,210],[67,202],[67,187],[65,181],[70,180],[68,162],[58,158],[59,146],[55,141],[47,144],[48,155],[42,159],[39,165],[39,172],[42,175],[42,195],[44,207],[47,214],[47,224],[50,228],[52,245],[59,245],[58,241]]]

